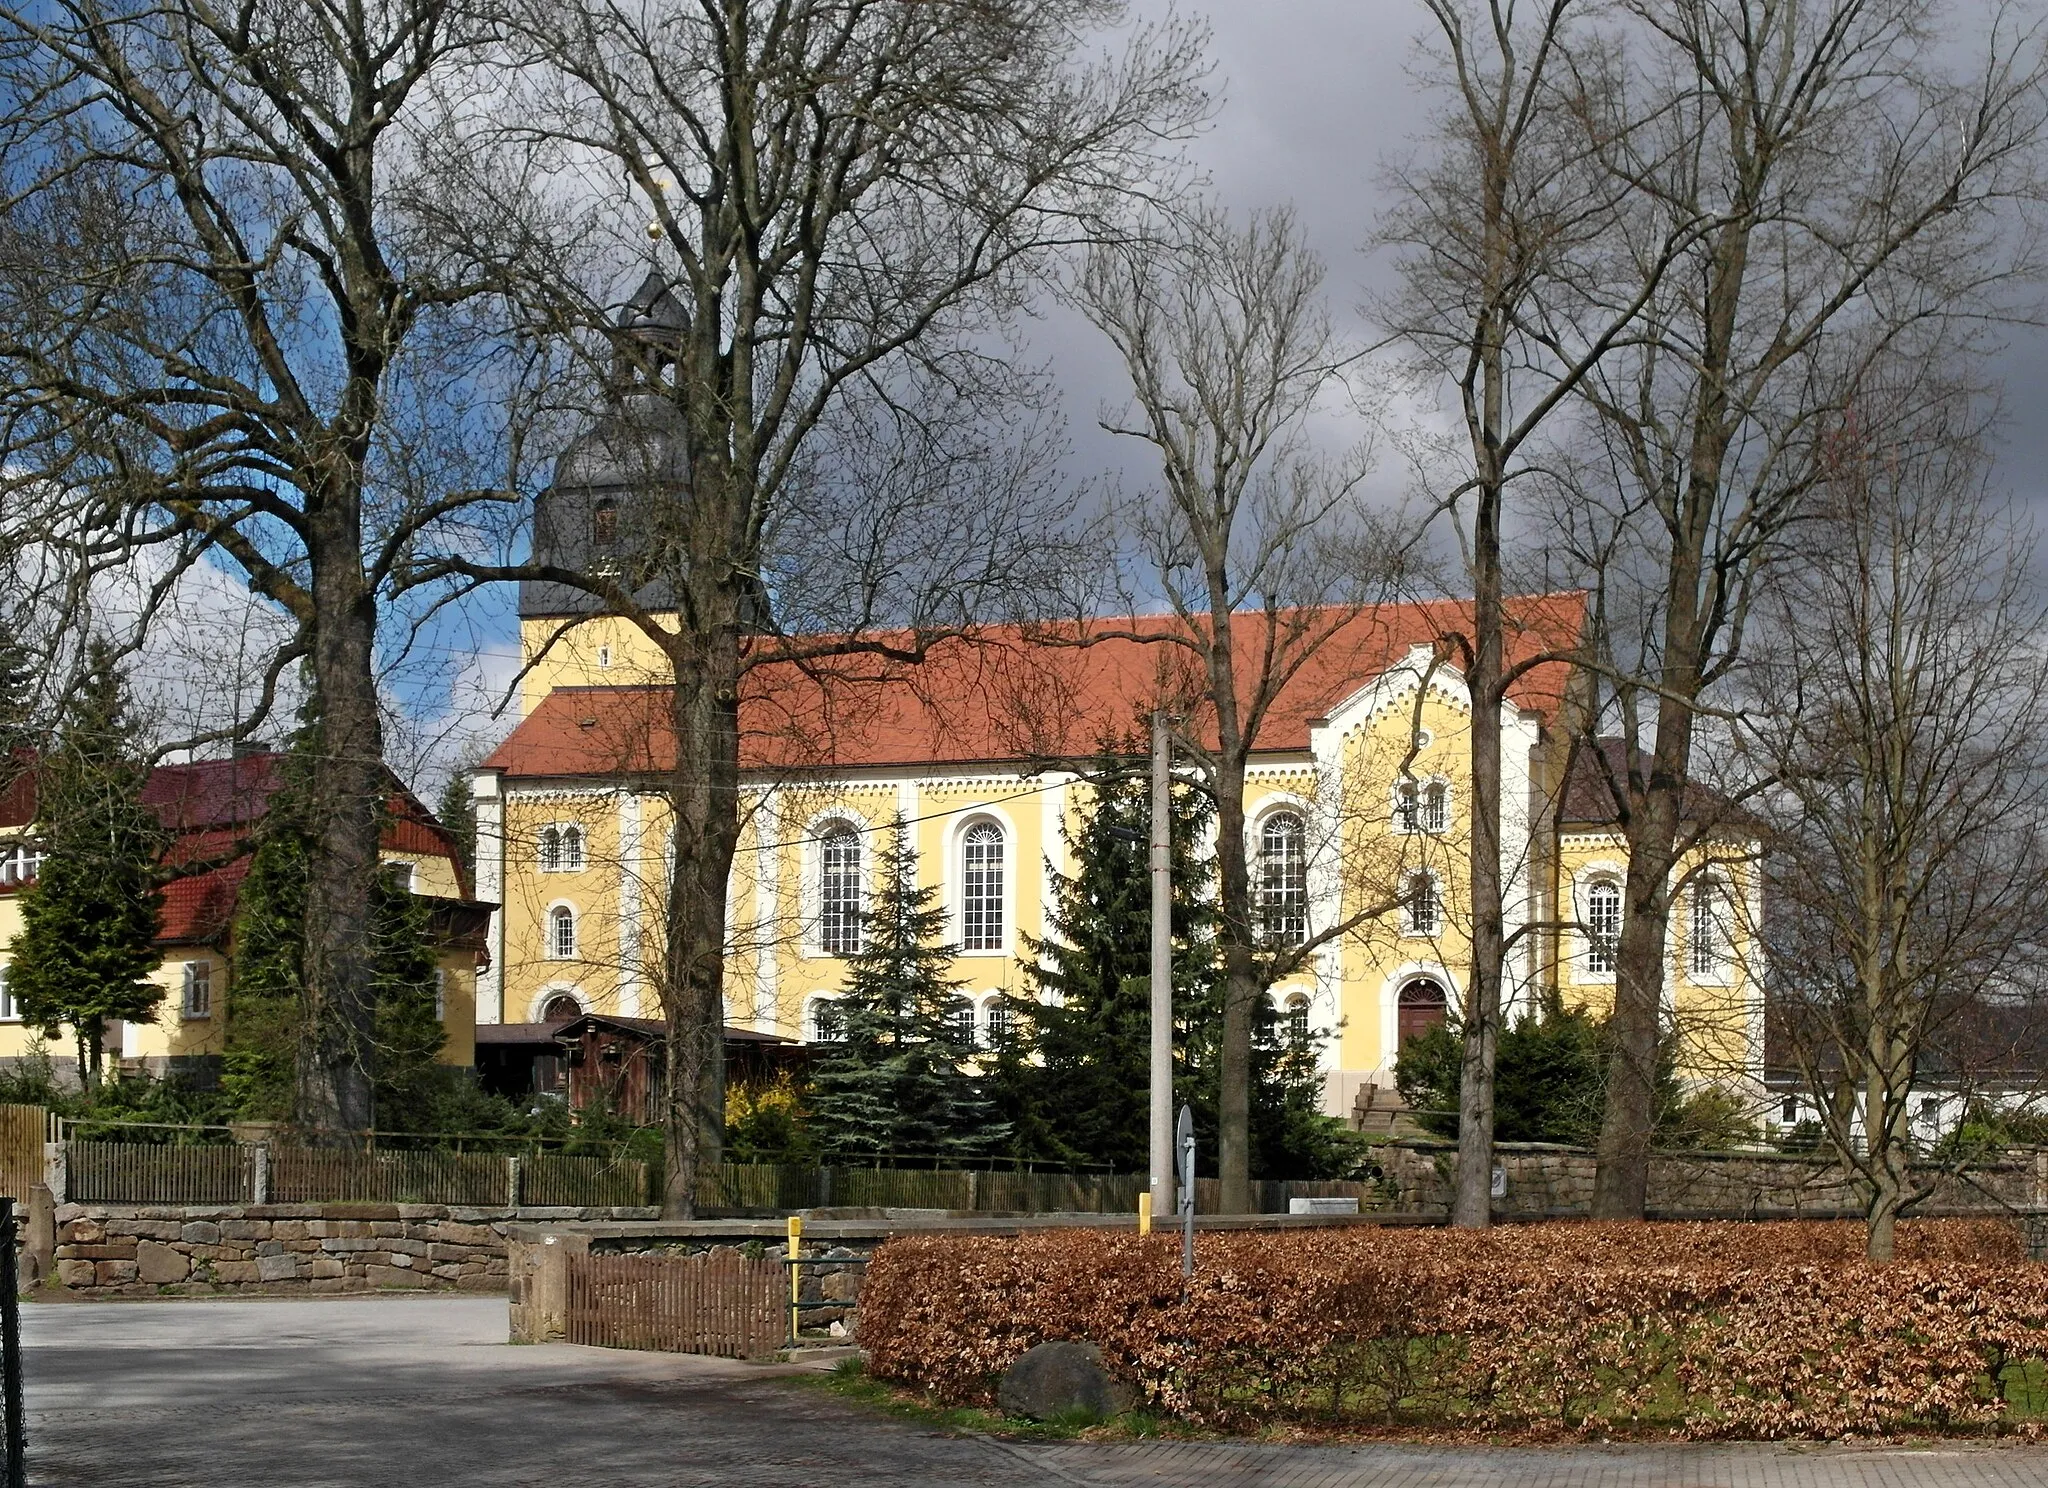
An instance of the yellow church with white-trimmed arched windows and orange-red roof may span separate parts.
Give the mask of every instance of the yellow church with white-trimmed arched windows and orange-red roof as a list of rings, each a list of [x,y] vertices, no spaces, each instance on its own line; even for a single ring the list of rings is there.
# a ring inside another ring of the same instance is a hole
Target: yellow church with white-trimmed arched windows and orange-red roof
[[[1536,661],[1575,651],[1583,598],[1530,596],[1509,612],[1511,661],[1532,667],[1501,716],[1507,999],[1602,1009],[1626,856],[1599,759],[1573,745],[1577,675]],[[1149,624],[1167,622],[1122,628]],[[1270,997],[1317,1040],[1331,1113],[1389,1091],[1403,1038],[1440,1021],[1468,980],[1473,704],[1450,661],[1466,624],[1456,602],[1346,618],[1290,677],[1247,772],[1255,909],[1268,937],[1307,950]],[[522,718],[473,778],[475,892],[502,905],[477,1019],[657,1017],[659,653],[612,618],[528,612],[522,628]],[[1087,759],[1106,739],[1141,739],[1149,710],[1174,702],[1161,651],[983,637],[915,677],[766,684],[774,696],[750,702],[774,723],[743,731],[727,1023],[831,1036],[879,851],[901,821],[946,909],[963,1017],[991,1036],[1004,997],[1028,991],[1026,939],[1044,933],[1055,874],[1073,870],[1065,833],[1090,808]],[[1696,1079],[1761,1075],[1753,868],[1751,841],[1712,833],[1675,886],[1665,1001]]]

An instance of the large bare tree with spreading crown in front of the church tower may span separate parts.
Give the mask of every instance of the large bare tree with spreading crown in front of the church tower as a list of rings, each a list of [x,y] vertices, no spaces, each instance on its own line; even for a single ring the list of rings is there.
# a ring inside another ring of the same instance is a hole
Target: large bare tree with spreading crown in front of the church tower
[[[659,469],[618,567],[438,571],[596,596],[674,680],[668,1214],[690,1214],[723,1130],[743,700],[774,667],[913,665],[1028,587],[1022,536],[1053,528],[1042,458],[977,430],[1030,401],[1006,321],[1108,201],[1176,174],[1208,108],[1196,31],[1083,59],[1120,18],[1110,0],[518,6],[532,82],[473,190],[502,203],[535,332],[627,358]],[[498,192],[489,162],[535,149],[561,182]],[[645,336],[610,334],[631,239]]]

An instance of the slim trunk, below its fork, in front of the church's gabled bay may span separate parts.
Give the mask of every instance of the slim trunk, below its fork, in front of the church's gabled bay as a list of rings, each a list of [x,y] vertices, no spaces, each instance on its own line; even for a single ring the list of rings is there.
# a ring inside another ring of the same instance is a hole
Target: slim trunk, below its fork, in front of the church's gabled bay
[[[1501,1034],[1507,935],[1501,905],[1501,565],[1497,483],[1483,483],[1473,520],[1473,968],[1464,989],[1464,1060],[1458,1075],[1458,1189],[1450,1220],[1483,1230],[1493,1220],[1493,1064]]]

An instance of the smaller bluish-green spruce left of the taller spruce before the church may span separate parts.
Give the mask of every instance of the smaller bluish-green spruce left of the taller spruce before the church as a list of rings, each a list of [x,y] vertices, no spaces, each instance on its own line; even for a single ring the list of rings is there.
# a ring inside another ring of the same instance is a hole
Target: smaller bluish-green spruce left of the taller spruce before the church
[[[983,1156],[1006,1126],[971,1068],[973,1023],[958,1015],[961,982],[946,976],[952,948],[940,939],[946,913],[938,888],[918,884],[901,819],[877,868],[838,1003],[840,1042],[811,1085],[811,1132],[827,1156]]]

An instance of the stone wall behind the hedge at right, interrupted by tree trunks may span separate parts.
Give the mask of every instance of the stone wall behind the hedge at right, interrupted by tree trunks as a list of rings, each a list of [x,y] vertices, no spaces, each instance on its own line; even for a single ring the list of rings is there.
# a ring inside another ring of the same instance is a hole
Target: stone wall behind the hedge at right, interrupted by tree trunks
[[[1450,1142],[1389,1142],[1378,1148],[1393,1208],[1448,1214],[1458,1171]],[[1571,1146],[1513,1142],[1495,1148],[1507,1193],[1493,1212],[1507,1218],[1587,1214],[1593,1154]],[[1960,1175],[1937,1175],[1921,1210],[1985,1212],[2048,1208],[2048,1152],[2013,1154]],[[1821,1156],[1772,1152],[1659,1152],[1651,1158],[1653,1218],[1778,1218],[1862,1214],[1855,1177]]]

